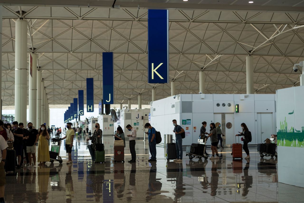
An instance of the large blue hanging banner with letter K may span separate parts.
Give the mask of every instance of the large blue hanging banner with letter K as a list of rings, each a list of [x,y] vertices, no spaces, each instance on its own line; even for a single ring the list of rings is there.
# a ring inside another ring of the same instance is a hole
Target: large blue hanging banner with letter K
[[[168,10],[148,10],[148,83],[169,82]]]

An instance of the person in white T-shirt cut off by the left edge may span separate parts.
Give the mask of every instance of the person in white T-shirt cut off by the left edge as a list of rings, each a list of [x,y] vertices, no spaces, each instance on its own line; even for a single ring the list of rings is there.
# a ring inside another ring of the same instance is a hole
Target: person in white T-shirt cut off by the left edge
[[[0,120],[0,127],[3,129],[3,121]],[[2,125],[1,125],[2,123]],[[5,130],[6,131],[6,130]],[[0,203],[4,203],[4,191],[5,191],[5,158],[6,158],[6,148],[9,146],[6,143],[6,140],[4,137],[0,136],[0,147],[1,147],[1,153],[0,153]]]

